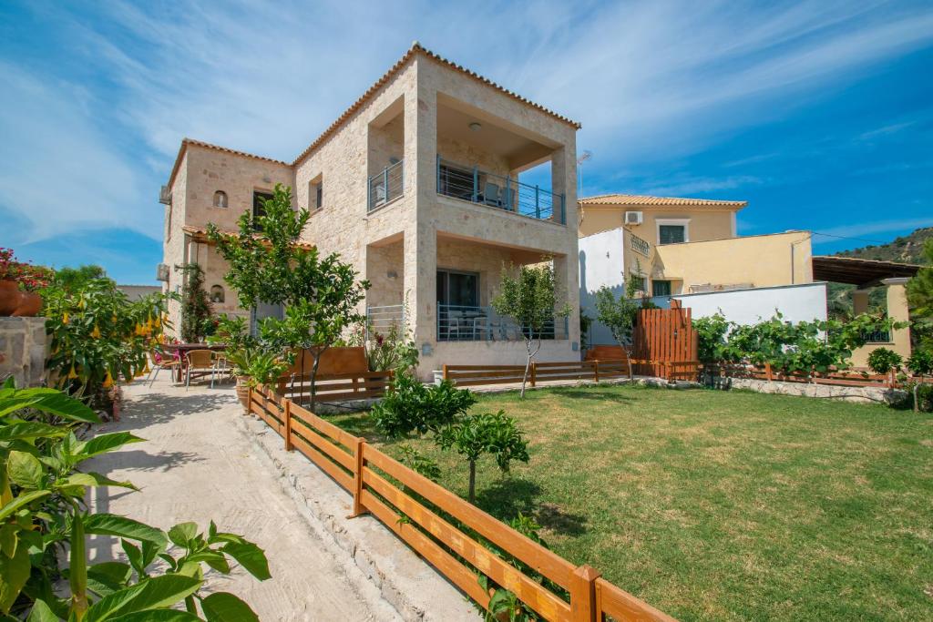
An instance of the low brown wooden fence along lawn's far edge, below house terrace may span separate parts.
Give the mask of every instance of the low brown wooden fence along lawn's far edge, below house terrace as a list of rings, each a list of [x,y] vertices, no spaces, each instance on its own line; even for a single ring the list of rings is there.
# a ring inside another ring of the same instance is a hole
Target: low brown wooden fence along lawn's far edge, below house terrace
[[[528,384],[546,380],[612,380],[631,378],[632,368],[643,366],[649,370],[660,369],[667,380],[697,380],[699,361],[649,361],[646,359],[611,359],[589,361],[566,361],[561,363],[533,362],[528,369]],[[522,381],[523,365],[445,365],[443,377],[453,380],[458,386],[477,384],[512,384]]]

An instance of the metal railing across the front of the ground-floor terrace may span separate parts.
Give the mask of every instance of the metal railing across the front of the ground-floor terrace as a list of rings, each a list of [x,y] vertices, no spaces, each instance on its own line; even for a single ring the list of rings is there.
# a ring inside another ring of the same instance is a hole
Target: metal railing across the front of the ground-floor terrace
[[[567,318],[548,322],[541,339],[567,339]],[[521,341],[529,334],[526,327],[494,311],[492,307],[444,305],[438,303],[439,341]],[[537,337],[535,335],[534,337]]]

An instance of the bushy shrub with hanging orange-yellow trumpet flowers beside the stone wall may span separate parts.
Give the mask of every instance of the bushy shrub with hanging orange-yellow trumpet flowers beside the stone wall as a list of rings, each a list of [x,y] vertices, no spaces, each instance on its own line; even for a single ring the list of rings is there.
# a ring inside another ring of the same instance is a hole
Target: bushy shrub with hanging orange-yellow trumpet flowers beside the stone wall
[[[168,296],[131,301],[110,279],[91,279],[77,290],[53,285],[42,295],[51,384],[109,409],[116,382],[148,371],[146,353],[162,339]]]

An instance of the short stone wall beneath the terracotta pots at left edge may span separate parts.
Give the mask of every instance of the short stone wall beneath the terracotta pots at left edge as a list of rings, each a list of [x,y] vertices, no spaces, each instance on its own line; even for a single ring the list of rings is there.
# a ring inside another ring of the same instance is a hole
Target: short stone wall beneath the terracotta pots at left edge
[[[49,353],[44,317],[0,317],[0,379],[12,374],[16,386],[39,386]]]

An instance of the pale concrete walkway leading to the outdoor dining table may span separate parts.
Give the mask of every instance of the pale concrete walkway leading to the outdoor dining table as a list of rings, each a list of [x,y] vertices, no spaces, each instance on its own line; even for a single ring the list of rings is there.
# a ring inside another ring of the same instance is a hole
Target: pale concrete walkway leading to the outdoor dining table
[[[137,518],[168,530],[196,521],[206,531],[244,534],[266,551],[272,579],[258,582],[237,568],[210,573],[208,590],[247,601],[263,620],[394,620],[397,610],[355,565],[352,556],[314,532],[285,494],[279,473],[258,455],[237,420],[244,419],[229,385],[175,388],[160,380],[124,389],[122,421],[101,432],[146,438],[88,463],[108,477],[129,479],[140,492],[98,489],[98,511]],[[122,557],[114,539],[91,541],[92,561]],[[398,546],[402,546],[400,543]]]

